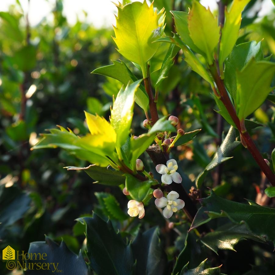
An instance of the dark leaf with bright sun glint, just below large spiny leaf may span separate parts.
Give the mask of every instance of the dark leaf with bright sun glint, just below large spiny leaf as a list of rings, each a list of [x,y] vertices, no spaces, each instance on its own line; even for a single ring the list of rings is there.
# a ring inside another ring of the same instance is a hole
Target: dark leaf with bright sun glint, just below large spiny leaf
[[[226,224],[201,238],[201,242],[218,254],[219,249],[234,250],[234,246],[241,240],[265,242],[263,237],[248,230],[245,224]]]

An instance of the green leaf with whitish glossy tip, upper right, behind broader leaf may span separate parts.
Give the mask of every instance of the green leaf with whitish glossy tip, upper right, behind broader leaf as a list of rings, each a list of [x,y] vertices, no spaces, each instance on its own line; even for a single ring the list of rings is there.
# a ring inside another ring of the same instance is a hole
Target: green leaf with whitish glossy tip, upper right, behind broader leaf
[[[239,1],[241,2],[241,1]],[[241,71],[243,67],[251,60],[263,60],[261,42],[256,41],[245,42],[233,48],[233,51],[226,58],[224,67],[224,84],[227,91],[236,100],[237,90],[237,71]]]

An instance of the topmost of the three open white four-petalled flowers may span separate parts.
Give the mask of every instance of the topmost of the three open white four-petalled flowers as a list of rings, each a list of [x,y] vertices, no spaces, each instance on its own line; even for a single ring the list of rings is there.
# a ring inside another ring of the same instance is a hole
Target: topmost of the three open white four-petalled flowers
[[[161,182],[164,184],[171,184],[172,181],[175,183],[181,183],[182,178],[176,170],[178,169],[177,162],[174,159],[169,159],[166,163],[167,166],[164,164],[158,164],[156,166],[156,170],[158,173],[162,174]]]

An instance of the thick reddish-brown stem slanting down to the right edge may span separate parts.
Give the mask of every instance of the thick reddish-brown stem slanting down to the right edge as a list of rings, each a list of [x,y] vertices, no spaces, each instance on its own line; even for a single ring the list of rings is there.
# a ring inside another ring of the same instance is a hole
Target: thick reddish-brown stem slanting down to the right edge
[[[237,117],[236,110],[228,96],[223,80],[219,77],[219,74],[215,68],[215,65],[210,66],[210,71],[217,85],[217,88],[219,90],[220,100],[222,101],[223,105],[226,107],[233,122],[235,123],[237,129],[239,130],[240,135],[242,136],[242,139],[247,145],[247,149],[249,150],[251,155],[254,157],[255,161],[258,163],[259,167],[262,169],[262,172],[264,172],[267,179],[270,181],[271,185],[275,186],[275,175],[273,174],[269,166],[266,164],[261,153],[259,152],[255,143],[253,142],[251,136],[248,134],[246,130],[242,129],[243,127],[241,126],[240,119]]]

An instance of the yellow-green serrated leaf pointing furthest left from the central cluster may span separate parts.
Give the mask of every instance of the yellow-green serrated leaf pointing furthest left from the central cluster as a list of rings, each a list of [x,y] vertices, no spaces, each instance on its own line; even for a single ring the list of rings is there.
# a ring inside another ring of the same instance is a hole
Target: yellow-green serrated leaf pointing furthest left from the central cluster
[[[82,139],[76,136],[72,131],[68,132],[65,128],[61,126],[59,127],[60,130],[50,129],[50,134],[42,134],[42,139],[40,139],[40,141],[34,145],[31,150],[60,147],[69,151],[76,157],[91,163],[103,167],[110,164],[110,159],[106,157],[106,154],[110,151],[110,148],[107,148],[107,152],[105,152],[103,148],[97,147],[97,144],[89,144],[85,140],[82,141]]]

